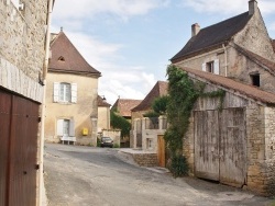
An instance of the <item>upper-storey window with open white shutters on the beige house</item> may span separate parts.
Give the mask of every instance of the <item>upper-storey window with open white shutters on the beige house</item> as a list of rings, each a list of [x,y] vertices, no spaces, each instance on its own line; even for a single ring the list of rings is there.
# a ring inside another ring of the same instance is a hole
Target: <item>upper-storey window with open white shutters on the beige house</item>
[[[54,82],[54,102],[76,103],[77,84],[66,82]]]

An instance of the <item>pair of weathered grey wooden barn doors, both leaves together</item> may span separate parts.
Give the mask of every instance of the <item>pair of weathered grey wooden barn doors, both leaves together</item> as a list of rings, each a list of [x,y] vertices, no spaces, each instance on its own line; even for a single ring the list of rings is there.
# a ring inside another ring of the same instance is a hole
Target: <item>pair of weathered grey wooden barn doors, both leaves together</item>
[[[246,183],[245,110],[196,111],[195,175],[242,186]]]

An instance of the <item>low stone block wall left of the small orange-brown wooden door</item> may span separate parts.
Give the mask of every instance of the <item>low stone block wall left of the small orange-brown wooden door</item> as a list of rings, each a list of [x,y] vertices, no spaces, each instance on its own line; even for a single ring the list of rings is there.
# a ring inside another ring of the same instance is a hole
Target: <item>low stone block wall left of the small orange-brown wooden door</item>
[[[134,161],[141,167],[157,167],[156,153],[133,153]]]

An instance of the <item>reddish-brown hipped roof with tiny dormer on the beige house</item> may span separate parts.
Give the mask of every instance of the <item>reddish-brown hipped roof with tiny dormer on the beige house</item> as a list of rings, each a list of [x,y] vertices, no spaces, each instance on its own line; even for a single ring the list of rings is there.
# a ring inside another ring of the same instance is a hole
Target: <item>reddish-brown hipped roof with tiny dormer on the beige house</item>
[[[52,58],[48,71],[78,73],[100,77],[101,73],[92,68],[79,54],[64,32],[61,32],[51,44]]]

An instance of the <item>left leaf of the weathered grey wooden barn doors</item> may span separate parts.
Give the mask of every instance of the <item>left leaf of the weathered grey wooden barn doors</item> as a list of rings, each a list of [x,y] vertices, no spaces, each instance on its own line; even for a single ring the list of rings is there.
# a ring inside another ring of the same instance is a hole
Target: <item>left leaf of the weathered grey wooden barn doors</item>
[[[196,111],[195,175],[219,180],[219,124],[218,111]]]

